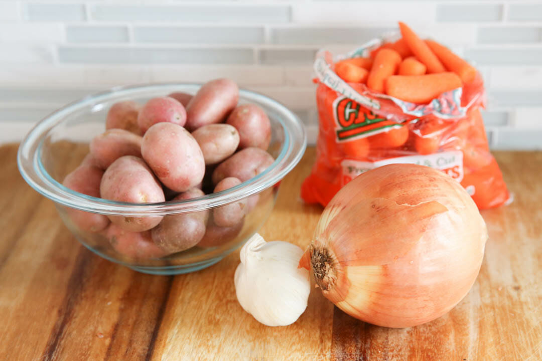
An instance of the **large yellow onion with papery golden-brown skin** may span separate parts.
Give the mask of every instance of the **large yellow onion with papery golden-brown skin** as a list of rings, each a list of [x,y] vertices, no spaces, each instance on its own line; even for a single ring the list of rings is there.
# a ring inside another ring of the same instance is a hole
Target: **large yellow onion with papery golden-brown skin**
[[[393,164],[349,182],[327,205],[300,267],[360,320],[409,327],[447,313],[482,263],[486,224],[459,182]]]

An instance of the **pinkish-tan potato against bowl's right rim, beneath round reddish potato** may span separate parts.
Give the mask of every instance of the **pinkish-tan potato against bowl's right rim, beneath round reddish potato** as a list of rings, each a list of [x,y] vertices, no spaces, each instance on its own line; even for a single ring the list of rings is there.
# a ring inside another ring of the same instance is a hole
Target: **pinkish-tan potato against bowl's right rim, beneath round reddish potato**
[[[241,182],[262,173],[275,160],[265,150],[260,148],[245,148],[223,161],[212,172],[212,183],[218,184],[227,177],[238,178]]]

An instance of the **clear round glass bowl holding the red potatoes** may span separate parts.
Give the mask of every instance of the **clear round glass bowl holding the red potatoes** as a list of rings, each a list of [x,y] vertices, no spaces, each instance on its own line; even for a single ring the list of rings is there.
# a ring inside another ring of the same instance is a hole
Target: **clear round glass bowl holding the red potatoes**
[[[88,143],[105,131],[106,114],[112,104],[125,100],[144,104],[152,97],[176,91],[195,94],[199,87],[199,84],[117,87],[68,104],[39,122],[25,137],[17,154],[19,170],[31,187],[55,202],[64,224],[75,237],[103,258],[152,274],[188,273],[215,264],[242,246],[263,225],[275,204],[280,180],[295,167],[305,152],[307,140],[302,123],[279,102],[253,91],[240,90],[240,104],[257,104],[269,116],[272,136],[268,152],[275,161],[261,174],[226,191],[184,201],[131,204],[95,198],[62,185],[64,177],[88,154]],[[210,241],[160,258],[127,252],[117,241],[108,241],[108,228],[96,233],[85,231],[70,218],[70,212],[79,211],[90,212],[88,216],[95,213],[127,217],[212,213],[214,208],[244,198],[250,198],[255,207],[246,214],[242,225],[233,227],[235,229],[214,228],[210,231],[212,217],[209,217],[207,232],[212,234],[205,237]]]

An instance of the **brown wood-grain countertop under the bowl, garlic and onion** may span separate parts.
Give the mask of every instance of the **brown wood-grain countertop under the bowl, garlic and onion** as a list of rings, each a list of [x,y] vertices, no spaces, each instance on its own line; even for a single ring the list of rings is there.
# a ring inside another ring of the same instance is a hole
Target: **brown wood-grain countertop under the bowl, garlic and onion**
[[[205,270],[154,276],[104,260],[64,227],[52,201],[0,147],[0,360],[541,360],[542,153],[499,152],[512,205],[482,211],[489,241],[467,296],[443,317],[386,329],[314,289],[291,326],[237,303],[238,252]],[[314,149],[282,182],[260,233],[308,245],[322,208],[299,199]],[[70,166],[70,165],[66,165]]]

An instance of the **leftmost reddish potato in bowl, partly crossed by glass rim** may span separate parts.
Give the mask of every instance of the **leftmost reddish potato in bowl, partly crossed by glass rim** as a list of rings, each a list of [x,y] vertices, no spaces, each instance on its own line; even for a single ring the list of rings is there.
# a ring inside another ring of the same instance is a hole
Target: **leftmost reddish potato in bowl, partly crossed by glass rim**
[[[100,198],[100,182],[104,171],[92,165],[80,165],[68,174],[62,184],[72,191]],[[109,225],[109,219],[103,214],[66,208],[72,223],[84,232],[100,232]]]

